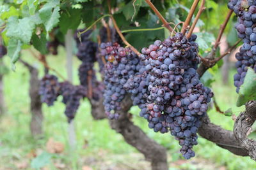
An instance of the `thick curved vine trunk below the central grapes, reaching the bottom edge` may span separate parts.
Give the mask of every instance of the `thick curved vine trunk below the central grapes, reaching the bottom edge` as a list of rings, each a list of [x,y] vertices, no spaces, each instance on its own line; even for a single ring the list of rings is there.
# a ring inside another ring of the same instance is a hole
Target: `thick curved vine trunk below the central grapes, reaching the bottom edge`
[[[102,99],[100,101],[93,101],[91,99],[90,102],[92,104],[93,118],[106,118]],[[145,159],[151,162],[153,170],[168,169],[166,149],[153,139],[148,138],[147,134],[140,127],[132,123],[131,116],[128,113],[131,106],[131,99],[129,99],[129,96],[125,97],[118,120],[109,120],[111,128],[122,134],[129,145],[134,146],[139,152],[143,153]]]

